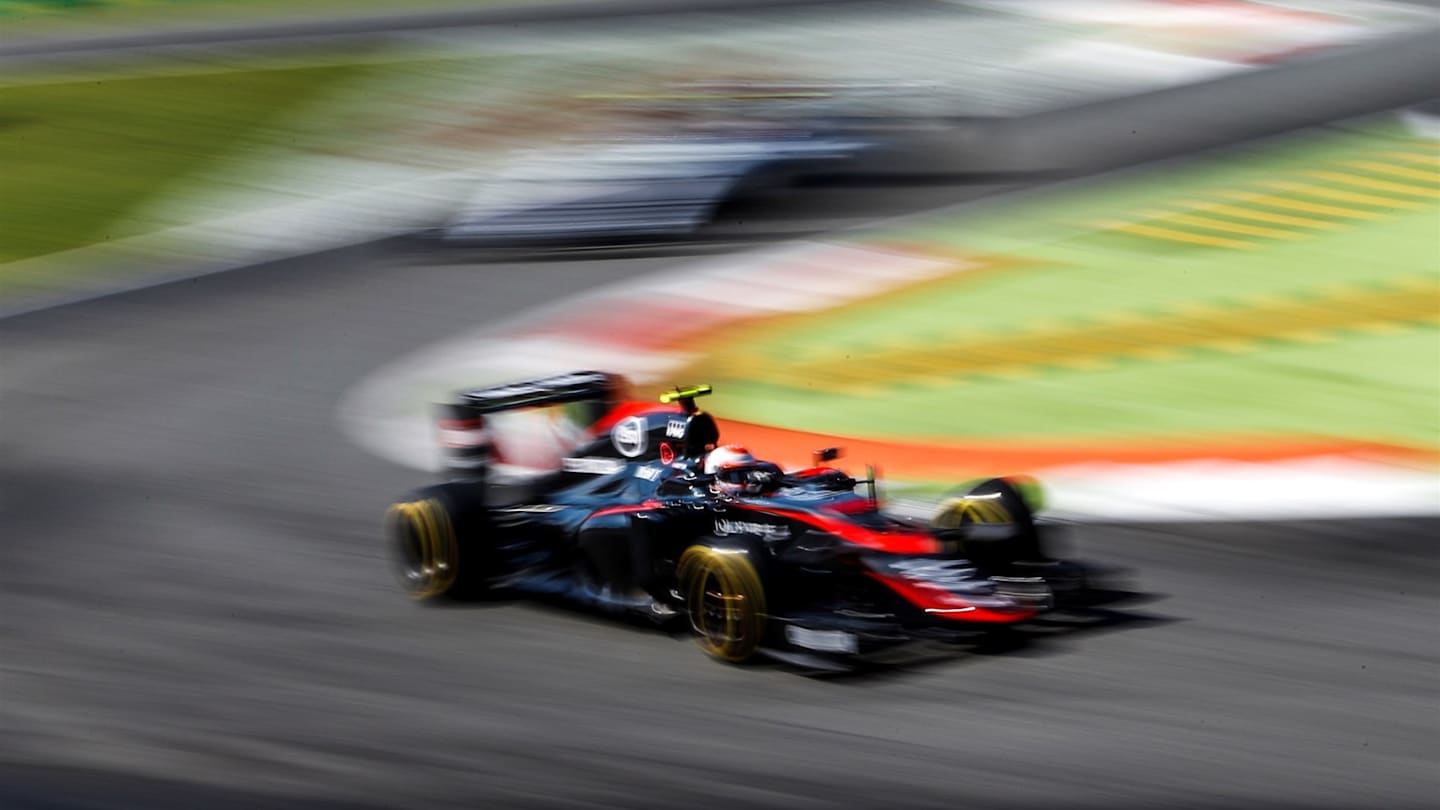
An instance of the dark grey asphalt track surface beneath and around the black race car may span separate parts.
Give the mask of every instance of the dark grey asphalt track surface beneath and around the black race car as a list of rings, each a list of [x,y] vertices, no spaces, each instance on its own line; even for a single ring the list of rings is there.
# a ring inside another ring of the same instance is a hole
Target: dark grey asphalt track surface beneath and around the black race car
[[[0,321],[0,806],[1420,807],[1436,522],[1080,528],[1146,600],[841,679],[431,608],[338,396],[684,258],[372,246]]]

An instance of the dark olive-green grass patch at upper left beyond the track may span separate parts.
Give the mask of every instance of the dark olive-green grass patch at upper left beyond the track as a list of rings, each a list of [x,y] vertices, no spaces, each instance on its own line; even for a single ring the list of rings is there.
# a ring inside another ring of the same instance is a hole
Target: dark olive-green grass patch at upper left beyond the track
[[[128,215],[242,147],[292,137],[287,115],[357,65],[0,86],[0,262],[166,223]]]

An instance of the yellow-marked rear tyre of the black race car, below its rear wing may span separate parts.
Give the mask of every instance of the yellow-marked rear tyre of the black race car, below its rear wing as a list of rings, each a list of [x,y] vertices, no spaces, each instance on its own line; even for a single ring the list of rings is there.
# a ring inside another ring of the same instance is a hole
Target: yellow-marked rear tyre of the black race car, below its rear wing
[[[475,597],[484,591],[484,507],[469,484],[439,484],[390,506],[384,539],[402,587],[416,600]]]

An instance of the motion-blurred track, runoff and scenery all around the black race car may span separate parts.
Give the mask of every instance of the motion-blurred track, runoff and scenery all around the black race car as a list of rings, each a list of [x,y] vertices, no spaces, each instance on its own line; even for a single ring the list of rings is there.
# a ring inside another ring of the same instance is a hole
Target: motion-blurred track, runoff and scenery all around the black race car
[[[0,0],[0,804],[1426,804],[1437,53],[1380,0]],[[900,503],[1038,476],[1156,601],[842,682],[403,602],[428,405],[576,368]]]

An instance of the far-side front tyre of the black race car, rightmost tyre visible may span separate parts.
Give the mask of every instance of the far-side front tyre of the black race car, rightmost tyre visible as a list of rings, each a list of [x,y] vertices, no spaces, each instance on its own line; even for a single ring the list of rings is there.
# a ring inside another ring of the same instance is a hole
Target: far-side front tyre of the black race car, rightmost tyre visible
[[[968,528],[972,525],[1011,525],[1014,530],[1005,536],[988,536],[971,532]],[[963,553],[981,568],[996,569],[1015,561],[1044,559],[1035,516],[1020,490],[1005,479],[979,481],[962,494],[945,499],[930,519],[930,528],[960,538]]]

